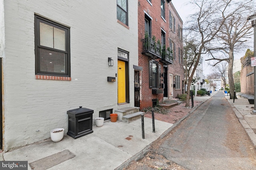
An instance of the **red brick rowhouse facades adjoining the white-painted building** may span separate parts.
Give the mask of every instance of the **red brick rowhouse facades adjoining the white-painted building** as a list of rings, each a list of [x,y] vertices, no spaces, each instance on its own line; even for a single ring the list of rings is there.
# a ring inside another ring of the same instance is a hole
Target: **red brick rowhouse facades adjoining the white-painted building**
[[[172,21],[170,21],[170,16],[173,16]],[[163,100],[176,98],[177,94],[182,94],[184,91],[182,24],[170,0],[138,0],[138,64],[143,68],[140,75],[140,109],[152,107],[152,100],[157,99],[159,103],[162,103]],[[176,25],[175,30],[172,25]],[[161,43],[164,42],[166,49],[170,47],[171,50],[173,49],[173,54],[174,51],[176,52],[172,64],[163,63],[159,57],[153,58],[142,54],[145,51],[142,39],[147,36],[146,30],[149,30],[148,37],[155,37],[156,42],[158,40]],[[157,87],[150,87],[150,61],[159,64]],[[174,88],[174,84],[177,83],[174,79],[176,76],[180,78],[179,88],[177,86]],[[159,93],[152,94],[152,89],[159,90]]]

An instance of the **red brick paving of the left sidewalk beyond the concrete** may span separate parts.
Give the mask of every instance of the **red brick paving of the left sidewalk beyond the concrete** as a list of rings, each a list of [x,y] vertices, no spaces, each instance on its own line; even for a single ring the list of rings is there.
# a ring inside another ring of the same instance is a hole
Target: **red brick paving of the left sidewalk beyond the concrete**
[[[194,101],[194,107],[200,103],[202,103],[202,101]],[[188,112],[192,110],[191,100],[190,100],[190,107],[185,107],[185,102],[183,102],[182,104],[171,107],[168,110],[169,112],[167,114],[154,113],[154,118],[156,120],[174,124],[185,115],[188,115]],[[144,114],[144,116],[148,118],[152,118],[152,113],[147,112]]]

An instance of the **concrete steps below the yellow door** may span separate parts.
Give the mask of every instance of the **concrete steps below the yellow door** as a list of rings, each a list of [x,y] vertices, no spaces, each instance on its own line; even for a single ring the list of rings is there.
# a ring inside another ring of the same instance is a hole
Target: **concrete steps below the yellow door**
[[[140,107],[123,107],[115,110],[115,113],[118,114],[117,119],[125,123],[141,119],[141,114],[144,114],[144,112],[140,111]]]

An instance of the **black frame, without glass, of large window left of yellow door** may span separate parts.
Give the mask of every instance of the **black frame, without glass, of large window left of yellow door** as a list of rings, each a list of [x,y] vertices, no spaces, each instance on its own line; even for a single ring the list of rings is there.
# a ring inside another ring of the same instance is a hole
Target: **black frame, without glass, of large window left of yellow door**
[[[60,23],[57,23],[52,20],[48,20],[46,18],[43,18],[42,16],[38,16],[35,14],[34,18],[34,34],[35,34],[35,74],[36,75],[47,75],[47,76],[62,76],[62,77],[70,77],[70,27],[64,26]],[[53,27],[56,27],[58,29],[65,31],[65,51],[54,49],[51,47],[46,47],[43,45],[40,45],[40,22],[45,23],[47,25],[51,25]],[[55,52],[64,53],[66,55],[65,58],[65,73],[58,73],[58,72],[47,72],[47,71],[41,71],[40,70],[40,53],[39,49],[45,49]]]

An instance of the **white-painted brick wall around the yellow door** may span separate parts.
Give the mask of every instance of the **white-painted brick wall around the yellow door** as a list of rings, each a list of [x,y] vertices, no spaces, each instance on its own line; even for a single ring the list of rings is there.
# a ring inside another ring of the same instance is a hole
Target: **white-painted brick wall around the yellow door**
[[[4,150],[48,139],[54,128],[66,133],[66,111],[78,106],[93,109],[94,118],[99,111],[120,108],[117,82],[107,82],[117,73],[118,48],[130,52],[130,104],[124,106],[134,106],[138,1],[129,1],[128,9],[129,29],[117,23],[116,1],[4,1]],[[70,27],[71,81],[35,79],[35,13]]]

